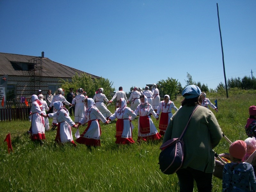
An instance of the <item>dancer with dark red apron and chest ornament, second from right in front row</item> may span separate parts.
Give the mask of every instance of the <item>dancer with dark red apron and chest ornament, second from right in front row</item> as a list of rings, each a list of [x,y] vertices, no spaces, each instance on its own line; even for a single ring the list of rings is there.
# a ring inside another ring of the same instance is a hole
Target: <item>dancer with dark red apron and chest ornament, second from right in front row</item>
[[[147,102],[147,97],[144,95],[140,96],[141,104],[137,107],[134,111],[136,115],[139,115],[138,121],[138,141],[141,140],[158,140],[161,138],[161,135],[158,133],[156,126],[154,125],[152,119],[150,118],[150,113],[155,117],[158,118],[156,112],[152,108],[150,104]],[[131,120],[134,118],[131,117]]]

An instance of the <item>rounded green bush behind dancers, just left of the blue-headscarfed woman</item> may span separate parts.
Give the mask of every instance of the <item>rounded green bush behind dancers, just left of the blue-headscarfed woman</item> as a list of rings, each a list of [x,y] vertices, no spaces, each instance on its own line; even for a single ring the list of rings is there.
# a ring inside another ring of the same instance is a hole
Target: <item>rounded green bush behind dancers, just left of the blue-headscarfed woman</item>
[[[169,95],[170,100],[176,98],[180,89],[179,86],[181,86],[181,84],[178,84],[178,80],[169,77],[166,80],[158,81],[157,85],[160,97],[163,98],[164,95]]]

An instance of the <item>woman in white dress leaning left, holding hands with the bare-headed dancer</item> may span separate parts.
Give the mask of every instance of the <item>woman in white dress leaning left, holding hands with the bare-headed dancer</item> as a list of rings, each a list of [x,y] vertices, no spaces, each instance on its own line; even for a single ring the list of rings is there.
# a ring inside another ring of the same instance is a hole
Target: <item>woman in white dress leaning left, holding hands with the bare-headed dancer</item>
[[[108,103],[108,99],[105,94],[103,94],[103,88],[98,89],[95,92],[93,97],[94,102],[96,103],[95,106],[99,109],[104,117],[108,117],[112,115],[112,113],[108,110],[107,106],[105,105],[104,101]]]

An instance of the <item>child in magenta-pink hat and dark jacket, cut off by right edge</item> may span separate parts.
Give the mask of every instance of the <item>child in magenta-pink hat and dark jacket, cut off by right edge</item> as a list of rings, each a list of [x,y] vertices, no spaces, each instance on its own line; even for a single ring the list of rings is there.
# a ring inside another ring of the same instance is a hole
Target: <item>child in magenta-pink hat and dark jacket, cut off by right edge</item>
[[[245,132],[248,137],[256,136],[256,106],[252,105],[249,107],[249,115],[250,117],[247,119],[247,123],[245,125]]]

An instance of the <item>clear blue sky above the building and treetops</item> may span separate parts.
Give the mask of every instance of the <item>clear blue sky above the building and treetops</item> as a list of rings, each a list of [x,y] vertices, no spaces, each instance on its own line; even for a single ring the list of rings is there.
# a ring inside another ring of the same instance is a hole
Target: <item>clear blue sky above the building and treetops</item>
[[[44,56],[118,89],[187,72],[215,89],[256,73],[256,1],[0,1],[0,52]],[[84,88],[86,90],[86,87]]]

